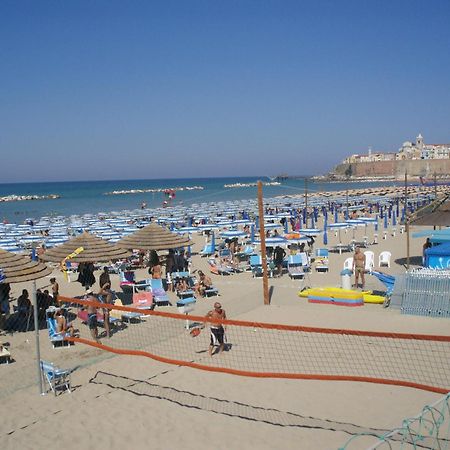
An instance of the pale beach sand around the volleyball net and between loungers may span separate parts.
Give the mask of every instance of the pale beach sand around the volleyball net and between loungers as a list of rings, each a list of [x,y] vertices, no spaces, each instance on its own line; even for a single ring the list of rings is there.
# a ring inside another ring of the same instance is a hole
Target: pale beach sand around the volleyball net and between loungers
[[[357,240],[362,234],[364,229],[358,229]],[[371,227],[367,234],[371,239]],[[352,237],[351,232],[342,236],[344,242]],[[336,239],[329,233],[329,246]],[[194,250],[198,251],[204,238],[196,240]],[[320,241],[319,237],[316,247],[321,246]],[[385,272],[404,272],[395,260],[404,258],[405,241],[404,234],[389,234],[371,247],[376,258],[383,250],[392,252],[392,266],[383,269]],[[411,239],[411,244],[416,261],[423,241]],[[343,261],[349,256],[332,254],[329,274],[312,272],[308,284],[338,286]],[[193,267],[207,270],[207,263],[194,256]],[[63,295],[82,293],[78,283],[65,283],[60,273],[55,274]],[[138,278],[144,276],[144,270],[140,271]],[[269,280],[273,286],[270,306],[262,304],[262,282],[251,274],[213,277],[220,301],[233,319],[376,331],[450,332],[448,319],[404,316],[381,305],[345,308],[309,304],[297,296],[301,282],[287,275]],[[37,284],[44,286],[48,279]],[[24,287],[27,285],[14,285],[13,295]],[[117,276],[113,277],[113,287],[118,289]],[[367,287],[383,289],[373,276],[367,276]],[[175,303],[174,294],[170,295]],[[195,314],[206,313],[215,300],[199,300]],[[2,342],[10,342],[15,359],[13,364],[0,365],[2,449],[337,449],[355,433],[397,427],[405,417],[416,415],[424,405],[441,397],[370,383],[210,373],[144,357],[117,356],[82,344],[52,349],[46,330],[40,336],[43,359],[62,367],[78,367],[72,374],[73,392],[56,398],[38,394],[33,385],[33,332],[1,337]],[[365,448],[368,442],[358,441],[349,448]]]

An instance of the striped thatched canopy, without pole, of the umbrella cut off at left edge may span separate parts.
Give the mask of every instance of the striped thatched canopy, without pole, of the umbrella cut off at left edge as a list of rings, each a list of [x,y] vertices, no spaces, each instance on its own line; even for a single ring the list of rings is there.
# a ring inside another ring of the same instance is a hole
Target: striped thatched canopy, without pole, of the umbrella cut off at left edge
[[[3,283],[23,283],[38,280],[52,271],[37,261],[0,249],[0,269],[3,272]]]

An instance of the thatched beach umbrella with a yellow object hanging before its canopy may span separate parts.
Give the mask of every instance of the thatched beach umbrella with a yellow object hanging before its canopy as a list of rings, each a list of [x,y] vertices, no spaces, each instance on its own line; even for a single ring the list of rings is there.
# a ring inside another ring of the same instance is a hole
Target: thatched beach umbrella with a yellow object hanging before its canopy
[[[47,250],[40,258],[44,261],[61,263],[68,255],[80,247],[83,248],[83,251],[70,258],[71,262],[114,261],[131,255],[128,250],[110,244],[98,236],[84,232],[62,245]]]

